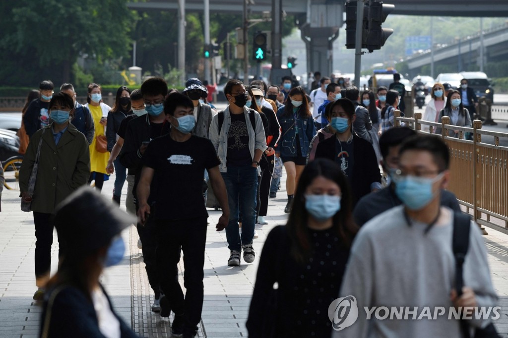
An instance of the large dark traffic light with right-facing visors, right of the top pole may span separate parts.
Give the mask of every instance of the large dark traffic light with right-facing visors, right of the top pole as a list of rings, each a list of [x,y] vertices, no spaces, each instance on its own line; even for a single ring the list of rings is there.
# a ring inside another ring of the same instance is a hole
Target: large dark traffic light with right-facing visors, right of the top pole
[[[367,35],[367,48],[369,52],[381,49],[386,40],[393,34],[393,29],[382,28],[388,14],[395,9],[394,5],[383,4],[383,2],[372,1],[369,6],[369,30]]]

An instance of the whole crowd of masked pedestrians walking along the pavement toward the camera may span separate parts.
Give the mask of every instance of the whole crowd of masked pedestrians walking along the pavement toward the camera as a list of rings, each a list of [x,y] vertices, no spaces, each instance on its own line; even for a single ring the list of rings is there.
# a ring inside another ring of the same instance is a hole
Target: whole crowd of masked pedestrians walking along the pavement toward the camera
[[[213,198],[222,213],[215,227],[226,231],[225,264],[252,263],[259,249],[255,225],[268,223],[282,166],[289,219],[270,231],[263,247],[246,323],[250,336],[458,337],[464,326],[458,321],[366,321],[363,313],[350,331],[333,333],[329,306],[347,295],[360,309],[496,301],[474,223],[465,287],[455,289],[451,243],[462,216],[446,190],[448,148],[434,136],[394,127],[397,90],[360,92],[343,79],[322,77],[307,94],[286,77],[280,87],[230,80],[228,106],[217,112],[206,103],[213,88],[197,78],[182,93],[156,77],[134,91],[122,86],[112,108],[102,102],[99,84],[88,86],[84,106],[71,84],[53,89],[43,81],[40,97],[24,109],[29,143],[20,170],[22,204],[34,212],[34,299],[44,300],[42,330],[66,335],[83,317],[88,324],[74,327],[82,336],[133,335],[112,310],[99,276],[121,260],[119,233],[136,223],[155,295],[151,310],[174,313],[174,336],[195,336],[204,298],[206,200]],[[445,104],[442,91],[440,84],[432,89],[436,108],[467,125],[467,109],[454,101],[460,92],[450,91]],[[137,221],[99,194],[113,172],[112,200],[120,204],[127,181],[126,209]],[[81,188],[92,182],[97,191]],[[60,262],[50,279],[54,226]],[[182,253],[185,295],[178,282]],[[473,273],[473,266],[481,271]],[[65,318],[66,325],[56,324]]]

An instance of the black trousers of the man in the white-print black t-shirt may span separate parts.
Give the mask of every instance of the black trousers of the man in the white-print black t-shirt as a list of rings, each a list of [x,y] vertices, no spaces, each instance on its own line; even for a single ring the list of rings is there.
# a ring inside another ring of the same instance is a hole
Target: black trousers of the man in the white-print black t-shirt
[[[206,222],[206,217],[155,221],[160,244],[157,246],[157,267],[161,290],[168,297],[173,312],[184,314],[184,335],[194,334],[203,310]],[[177,264],[181,251],[185,269],[185,298],[178,283]]]

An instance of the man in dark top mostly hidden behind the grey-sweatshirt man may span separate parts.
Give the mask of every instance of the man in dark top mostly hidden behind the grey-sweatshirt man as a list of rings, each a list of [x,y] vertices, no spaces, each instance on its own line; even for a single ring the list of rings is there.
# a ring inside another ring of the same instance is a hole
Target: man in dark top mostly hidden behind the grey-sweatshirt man
[[[387,130],[379,138],[379,148],[383,156],[381,165],[385,174],[388,175],[389,182],[387,187],[360,199],[353,212],[355,223],[358,226],[362,226],[377,215],[402,204],[402,201],[395,194],[395,183],[392,176],[399,168],[400,145],[404,140],[415,135],[415,130],[400,127]],[[457,212],[461,211],[457,198],[448,190],[441,190],[441,206]]]

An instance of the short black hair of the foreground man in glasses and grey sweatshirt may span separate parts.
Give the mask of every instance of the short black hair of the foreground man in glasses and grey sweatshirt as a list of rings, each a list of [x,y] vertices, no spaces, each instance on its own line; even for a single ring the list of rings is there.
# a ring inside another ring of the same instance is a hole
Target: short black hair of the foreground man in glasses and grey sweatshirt
[[[399,156],[409,150],[428,151],[439,168],[439,172],[443,172],[450,167],[448,146],[439,137],[421,135],[408,138],[400,146]]]

